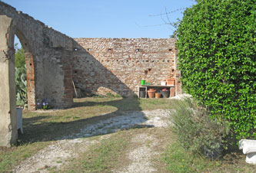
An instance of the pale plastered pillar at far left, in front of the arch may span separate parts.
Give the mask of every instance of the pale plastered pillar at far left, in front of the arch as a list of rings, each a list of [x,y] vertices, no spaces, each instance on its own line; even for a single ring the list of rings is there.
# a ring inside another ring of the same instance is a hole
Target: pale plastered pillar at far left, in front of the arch
[[[10,147],[18,137],[15,98],[15,26],[0,15],[0,146]]]

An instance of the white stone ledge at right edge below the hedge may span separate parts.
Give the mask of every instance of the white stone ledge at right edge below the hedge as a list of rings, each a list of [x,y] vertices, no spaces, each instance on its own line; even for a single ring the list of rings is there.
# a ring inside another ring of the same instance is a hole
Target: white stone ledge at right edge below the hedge
[[[246,155],[245,162],[256,165],[256,140],[241,139],[239,149]]]

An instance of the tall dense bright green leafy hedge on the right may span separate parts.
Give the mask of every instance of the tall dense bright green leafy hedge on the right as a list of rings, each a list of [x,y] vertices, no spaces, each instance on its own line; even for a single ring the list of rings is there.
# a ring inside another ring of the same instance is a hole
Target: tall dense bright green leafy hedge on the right
[[[178,26],[185,90],[237,138],[256,137],[256,1],[198,0]]]

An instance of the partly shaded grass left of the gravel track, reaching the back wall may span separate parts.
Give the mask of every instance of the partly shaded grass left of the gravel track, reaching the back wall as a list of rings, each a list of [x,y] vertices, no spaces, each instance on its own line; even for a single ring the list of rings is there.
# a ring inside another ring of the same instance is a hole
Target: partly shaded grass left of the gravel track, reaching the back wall
[[[94,96],[75,99],[70,109],[23,111],[24,134],[18,135],[17,146],[0,148],[0,172],[12,170],[56,139],[80,132],[86,125],[115,116],[118,111],[168,108],[169,103],[170,100]]]

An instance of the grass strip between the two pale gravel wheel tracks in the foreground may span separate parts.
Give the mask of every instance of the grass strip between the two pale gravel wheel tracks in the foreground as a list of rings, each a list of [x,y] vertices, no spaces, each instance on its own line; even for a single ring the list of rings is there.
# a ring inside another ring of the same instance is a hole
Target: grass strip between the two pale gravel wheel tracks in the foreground
[[[85,153],[62,168],[65,172],[111,172],[120,164],[125,154],[130,135],[118,132],[108,139],[102,139],[97,145],[92,145]],[[62,172],[59,171],[59,172]]]

